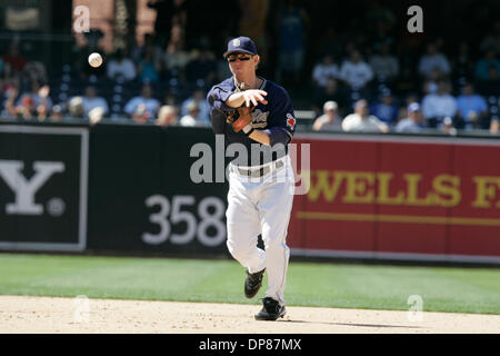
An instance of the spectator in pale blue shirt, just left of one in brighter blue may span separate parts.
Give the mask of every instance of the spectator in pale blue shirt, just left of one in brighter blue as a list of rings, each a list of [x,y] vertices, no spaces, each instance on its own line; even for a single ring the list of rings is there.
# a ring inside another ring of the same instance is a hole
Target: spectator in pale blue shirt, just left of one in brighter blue
[[[449,92],[449,83],[441,80],[437,93],[429,93],[423,97],[422,112],[429,127],[439,128],[444,117],[453,118],[456,116],[457,101]]]

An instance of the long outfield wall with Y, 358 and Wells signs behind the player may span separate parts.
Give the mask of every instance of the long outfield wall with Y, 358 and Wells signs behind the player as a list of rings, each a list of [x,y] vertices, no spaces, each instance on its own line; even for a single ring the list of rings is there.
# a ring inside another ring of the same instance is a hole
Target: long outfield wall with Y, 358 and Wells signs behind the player
[[[500,263],[500,140],[294,141],[292,255]],[[203,128],[0,125],[0,249],[227,254],[228,185],[191,181],[197,144],[220,149]]]

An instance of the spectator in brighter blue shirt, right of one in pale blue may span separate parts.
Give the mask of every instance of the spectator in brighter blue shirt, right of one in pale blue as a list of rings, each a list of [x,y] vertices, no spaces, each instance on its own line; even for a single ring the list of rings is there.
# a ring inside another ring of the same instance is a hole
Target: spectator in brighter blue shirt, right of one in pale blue
[[[488,105],[483,97],[474,93],[472,83],[463,86],[462,95],[457,98],[458,128],[479,129],[488,116]]]

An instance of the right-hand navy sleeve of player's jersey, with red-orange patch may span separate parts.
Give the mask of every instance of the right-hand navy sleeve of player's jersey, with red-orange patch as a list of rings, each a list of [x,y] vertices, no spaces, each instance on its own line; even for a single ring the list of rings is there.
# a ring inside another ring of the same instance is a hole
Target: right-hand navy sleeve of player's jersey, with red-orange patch
[[[270,103],[270,125],[264,131],[270,137],[271,146],[288,145],[293,137],[297,122],[291,99],[283,88],[278,87]]]

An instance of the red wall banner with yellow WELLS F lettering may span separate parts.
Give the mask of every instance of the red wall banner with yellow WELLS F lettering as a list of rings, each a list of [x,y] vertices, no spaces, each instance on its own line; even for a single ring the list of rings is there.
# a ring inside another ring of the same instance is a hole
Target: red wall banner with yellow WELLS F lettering
[[[297,168],[310,184],[294,197],[292,251],[500,261],[499,141],[336,135],[294,142],[310,144],[309,171]]]

